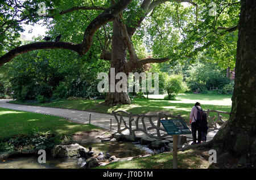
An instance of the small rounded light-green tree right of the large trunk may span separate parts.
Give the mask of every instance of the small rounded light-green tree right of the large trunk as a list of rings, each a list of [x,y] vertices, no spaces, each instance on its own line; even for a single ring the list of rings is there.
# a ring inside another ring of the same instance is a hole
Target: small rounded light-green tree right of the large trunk
[[[187,90],[187,85],[183,82],[183,75],[171,75],[166,80],[164,89],[168,96],[164,97],[168,100],[174,100],[178,93],[183,93]]]

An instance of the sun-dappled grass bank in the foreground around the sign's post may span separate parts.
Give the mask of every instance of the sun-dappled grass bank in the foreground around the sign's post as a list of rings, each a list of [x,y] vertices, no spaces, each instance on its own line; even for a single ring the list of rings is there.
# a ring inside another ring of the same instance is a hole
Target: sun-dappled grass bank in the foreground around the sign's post
[[[207,153],[207,152],[206,152]],[[199,150],[177,152],[177,168],[205,169],[209,168],[208,156]],[[172,168],[172,153],[161,153],[154,156],[135,158],[131,161],[112,162],[97,169],[170,169]]]

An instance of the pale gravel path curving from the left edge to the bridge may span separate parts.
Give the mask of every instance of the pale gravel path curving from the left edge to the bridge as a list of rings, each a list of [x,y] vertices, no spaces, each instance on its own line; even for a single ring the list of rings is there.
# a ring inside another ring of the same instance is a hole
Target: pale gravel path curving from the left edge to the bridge
[[[110,129],[110,118],[112,118],[112,132],[117,130],[117,123],[113,115],[110,114],[102,114],[102,113],[93,113],[93,112],[85,112],[81,110],[71,110],[71,109],[60,109],[60,108],[46,108],[42,106],[30,106],[30,105],[18,105],[18,104],[10,104],[7,101],[11,100],[0,100],[0,108],[14,109],[14,110],[22,110],[25,112],[32,113],[40,113],[40,114],[48,114],[54,115],[58,117],[67,118],[73,122],[77,123],[89,123],[89,117],[91,114],[90,123],[95,126],[103,127],[106,129]],[[128,118],[124,117],[127,121]],[[149,123],[149,122],[148,122]],[[191,127],[189,127],[191,128]],[[128,134],[129,131],[124,132],[124,134]],[[207,140],[211,140],[213,136],[216,134],[217,130],[208,132]],[[136,135],[144,135],[142,133],[138,133]],[[192,135],[187,135],[187,138],[192,138]]]

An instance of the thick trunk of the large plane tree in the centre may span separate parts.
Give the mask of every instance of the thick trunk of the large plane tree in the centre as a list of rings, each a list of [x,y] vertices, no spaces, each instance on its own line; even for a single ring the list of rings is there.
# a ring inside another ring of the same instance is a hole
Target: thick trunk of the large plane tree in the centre
[[[127,63],[127,46],[123,41],[121,29],[118,26],[116,20],[113,21],[113,38],[112,38],[112,57],[111,68],[115,68],[115,74],[118,72],[124,72],[127,77],[128,73],[125,70],[125,64]],[[117,83],[119,80],[115,80]],[[110,71],[109,71],[109,84],[110,84]],[[105,105],[115,106],[117,104],[130,104],[131,100],[127,92],[109,92],[106,93]]]

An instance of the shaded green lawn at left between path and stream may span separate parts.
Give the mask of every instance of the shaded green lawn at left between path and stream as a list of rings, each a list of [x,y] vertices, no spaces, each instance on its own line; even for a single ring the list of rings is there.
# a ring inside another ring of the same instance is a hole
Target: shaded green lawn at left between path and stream
[[[0,140],[10,138],[13,135],[29,134],[36,131],[52,131],[56,134],[74,134],[89,130],[99,130],[100,127],[82,125],[69,122],[67,119],[52,115],[28,113],[11,109],[0,108]]]

